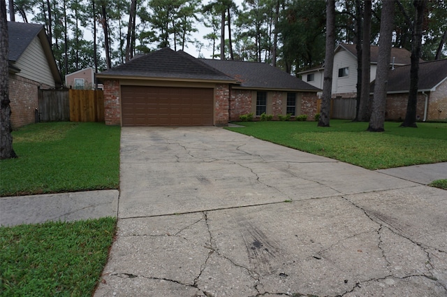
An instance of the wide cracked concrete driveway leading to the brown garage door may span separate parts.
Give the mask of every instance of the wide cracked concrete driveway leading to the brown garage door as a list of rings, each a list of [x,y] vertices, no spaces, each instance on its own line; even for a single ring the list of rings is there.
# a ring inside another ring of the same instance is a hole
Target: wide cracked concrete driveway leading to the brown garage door
[[[447,296],[444,190],[216,127],[121,142],[95,296]]]

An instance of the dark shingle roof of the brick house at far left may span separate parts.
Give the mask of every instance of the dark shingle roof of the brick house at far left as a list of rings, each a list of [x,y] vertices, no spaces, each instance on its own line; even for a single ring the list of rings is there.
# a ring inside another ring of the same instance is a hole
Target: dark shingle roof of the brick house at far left
[[[8,22],[9,60],[17,61],[41,30],[43,30],[41,24]]]

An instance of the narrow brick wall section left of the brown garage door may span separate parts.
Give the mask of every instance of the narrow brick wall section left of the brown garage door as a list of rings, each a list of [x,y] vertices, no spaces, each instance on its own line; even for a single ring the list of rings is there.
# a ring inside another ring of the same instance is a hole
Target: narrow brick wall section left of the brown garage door
[[[107,125],[121,125],[119,80],[104,81],[104,117]]]

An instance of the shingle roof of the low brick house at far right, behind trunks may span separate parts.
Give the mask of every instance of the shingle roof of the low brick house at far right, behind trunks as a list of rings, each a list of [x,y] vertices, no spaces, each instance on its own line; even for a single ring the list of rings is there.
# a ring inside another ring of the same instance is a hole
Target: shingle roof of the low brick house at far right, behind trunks
[[[411,65],[399,66],[388,73],[387,92],[409,92]],[[447,79],[447,59],[419,63],[418,89],[429,91]],[[375,82],[375,81],[374,81]],[[374,92],[374,82],[371,92]]]

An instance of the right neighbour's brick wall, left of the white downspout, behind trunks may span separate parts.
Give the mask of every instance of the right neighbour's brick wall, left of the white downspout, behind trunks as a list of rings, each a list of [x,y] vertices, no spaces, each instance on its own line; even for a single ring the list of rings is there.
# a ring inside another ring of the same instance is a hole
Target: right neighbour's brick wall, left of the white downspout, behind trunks
[[[388,94],[386,97],[385,119],[391,121],[403,121],[406,115],[406,105],[408,103],[408,93]],[[425,96],[418,93],[418,106],[416,116],[422,120],[424,118]]]

